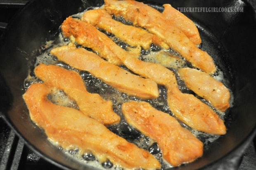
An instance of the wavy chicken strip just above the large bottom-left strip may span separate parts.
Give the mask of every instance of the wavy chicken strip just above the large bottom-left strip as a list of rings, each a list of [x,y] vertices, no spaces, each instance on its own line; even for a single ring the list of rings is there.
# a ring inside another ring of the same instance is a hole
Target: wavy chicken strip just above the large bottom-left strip
[[[87,92],[83,79],[75,71],[68,71],[54,65],[39,64],[34,70],[36,76],[50,86],[64,90],[76,101],[79,110],[104,125],[118,123],[120,116],[112,109],[112,102],[99,94]]]

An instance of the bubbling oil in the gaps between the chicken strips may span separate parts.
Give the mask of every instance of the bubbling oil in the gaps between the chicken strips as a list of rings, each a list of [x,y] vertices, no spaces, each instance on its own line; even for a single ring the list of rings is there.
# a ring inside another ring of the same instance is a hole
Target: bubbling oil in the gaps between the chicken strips
[[[94,9],[94,7],[92,7]],[[80,18],[82,13],[74,14],[76,18]],[[122,17],[113,17],[117,21],[121,21],[124,24],[132,25],[132,23],[125,21]],[[119,38],[115,37],[111,33],[107,33],[103,30],[100,30],[104,32],[106,35],[109,36],[116,44],[121,46],[125,50],[129,50],[130,47],[126,43],[124,43],[122,40]],[[140,131],[135,129],[135,127],[132,127],[129,125],[122,113],[122,104],[124,102],[129,102],[129,101],[145,101],[151,104],[154,108],[163,111],[171,116],[174,116],[173,113],[170,111],[167,101],[166,101],[166,88],[164,86],[159,85],[159,97],[156,99],[140,99],[138,97],[134,96],[129,96],[126,93],[119,92],[119,90],[111,87],[110,85],[107,85],[106,83],[102,82],[102,80],[92,76],[89,72],[87,71],[82,71],[75,69],[68,64],[63,63],[62,61],[59,61],[57,57],[53,56],[50,54],[50,50],[55,47],[59,47],[62,45],[67,45],[70,43],[69,38],[65,38],[62,36],[61,31],[59,32],[59,36],[55,40],[51,40],[45,44],[45,51],[40,54],[36,58],[36,62],[34,64],[34,67],[36,67],[38,64],[43,63],[43,64],[53,64],[53,65],[58,65],[61,66],[67,70],[74,70],[77,71],[81,78],[84,81],[84,84],[86,86],[86,89],[90,93],[98,93],[100,96],[106,100],[110,100],[112,102],[112,108],[115,113],[117,113],[120,117],[121,120],[118,124],[115,125],[109,125],[108,128],[112,132],[114,132],[116,135],[119,135],[120,137],[123,137],[126,139],[128,142],[132,142],[135,145],[137,145],[140,148],[143,148],[150,153],[152,153],[155,158],[159,160],[159,162],[162,165],[161,169],[166,169],[166,168],[171,168],[172,166],[169,165],[162,157],[161,149],[159,149],[157,143],[153,140],[150,139],[149,137],[143,135]],[[80,45],[77,45],[77,47],[81,47]],[[86,48],[86,47],[85,47]],[[141,50],[141,54],[139,57],[142,61],[147,61],[147,62],[154,62],[154,63],[159,63],[165,66],[166,68],[170,68],[176,75],[177,82],[179,89],[182,92],[185,93],[190,93],[194,94],[191,90],[189,90],[186,86],[185,83],[180,79],[178,76],[178,69],[182,67],[187,67],[190,66],[191,64],[188,63],[180,54],[177,52],[173,51],[172,49],[169,50],[164,50],[161,49],[161,47],[158,47],[154,44],[151,45],[149,50]],[[128,70],[126,66],[121,66],[121,68]],[[220,82],[226,81],[223,77],[223,73],[220,69],[217,69],[216,74],[213,75],[213,78],[216,80],[219,80]],[[30,84],[32,83],[41,83],[42,81],[36,78],[34,75],[33,71],[29,71],[28,77],[24,80],[24,89],[29,87]],[[228,84],[228,83],[227,83]],[[194,94],[196,95],[196,94]],[[67,107],[72,107],[74,109],[78,109],[79,107],[77,106],[76,102],[70,99],[62,90],[55,90],[51,94],[48,94],[48,99],[50,99],[53,103],[62,105],[62,106],[67,106]],[[196,96],[198,97],[198,96]],[[201,99],[202,102],[209,104],[206,100],[198,97]],[[224,118],[225,113],[221,113],[217,110],[215,110],[216,113],[221,117]],[[174,116],[175,117],[175,116]],[[179,121],[180,122],[180,121]],[[194,136],[196,136],[198,139],[200,139],[204,143],[204,148],[207,149],[209,145],[218,139],[218,135],[210,135],[204,132],[199,132],[197,130],[193,130],[186,124],[180,122],[180,125],[182,125],[184,128],[187,128],[190,130]],[[50,139],[49,139],[50,140]],[[93,166],[95,168],[99,169],[113,169],[113,170],[123,170],[122,167],[118,165],[113,165],[109,160],[106,160],[105,162],[100,162],[97,160],[97,158],[89,151],[85,153],[81,153],[76,146],[71,146],[68,149],[63,149],[59,144],[55,141],[50,140],[52,144],[56,145],[59,147],[60,150],[62,150],[64,153],[67,155],[76,158],[77,160],[81,161],[82,163],[85,163],[87,165]]]

